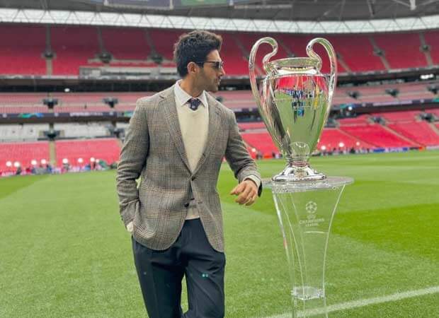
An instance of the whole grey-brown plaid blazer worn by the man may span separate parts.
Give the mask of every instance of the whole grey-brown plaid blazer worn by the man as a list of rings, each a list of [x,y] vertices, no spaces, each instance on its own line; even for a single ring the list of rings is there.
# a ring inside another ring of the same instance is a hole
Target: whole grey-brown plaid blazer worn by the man
[[[150,249],[167,249],[176,241],[188,203],[195,198],[210,245],[223,252],[222,211],[216,189],[222,158],[225,155],[239,182],[249,175],[261,178],[241,139],[234,112],[210,94],[207,102],[207,141],[197,167],[190,172],[173,86],[137,100],[116,181],[123,223],[133,221],[135,240]]]

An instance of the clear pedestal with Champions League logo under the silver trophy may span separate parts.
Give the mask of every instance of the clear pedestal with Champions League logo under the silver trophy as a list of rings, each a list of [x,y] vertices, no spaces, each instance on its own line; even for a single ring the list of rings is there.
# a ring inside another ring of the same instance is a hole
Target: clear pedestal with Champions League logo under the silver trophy
[[[350,177],[275,182],[272,189],[290,271],[292,317],[328,317],[325,261],[329,232]]]

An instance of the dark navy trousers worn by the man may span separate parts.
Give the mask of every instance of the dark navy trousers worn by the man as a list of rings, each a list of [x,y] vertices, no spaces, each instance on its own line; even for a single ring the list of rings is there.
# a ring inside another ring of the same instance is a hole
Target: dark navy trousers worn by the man
[[[224,317],[224,253],[210,246],[200,219],[186,220],[169,249],[156,251],[132,240],[137,276],[149,318]],[[186,277],[188,312],[181,309]]]

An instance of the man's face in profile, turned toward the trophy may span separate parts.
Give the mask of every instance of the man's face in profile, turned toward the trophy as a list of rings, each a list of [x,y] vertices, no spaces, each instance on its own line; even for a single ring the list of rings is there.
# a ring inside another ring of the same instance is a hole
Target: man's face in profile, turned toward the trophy
[[[208,92],[217,92],[218,86],[220,86],[221,78],[226,73],[222,66],[217,68],[217,63],[211,62],[220,62],[222,61],[220,57],[220,52],[217,49],[213,50],[205,59],[205,63],[203,67],[200,66],[200,71],[196,78],[196,85],[203,90]]]

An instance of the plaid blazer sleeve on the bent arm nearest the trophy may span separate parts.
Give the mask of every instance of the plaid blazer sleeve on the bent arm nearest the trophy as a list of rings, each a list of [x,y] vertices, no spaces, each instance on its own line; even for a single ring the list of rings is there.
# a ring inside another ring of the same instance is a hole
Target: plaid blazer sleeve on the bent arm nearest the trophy
[[[229,166],[234,172],[234,176],[239,182],[252,176],[261,180],[256,163],[250,157],[249,151],[247,151],[246,145],[242,140],[241,134],[239,134],[238,124],[236,123],[236,117],[233,112],[229,112],[229,138],[227,140],[226,148],[226,160]],[[250,179],[252,179],[250,177]],[[258,195],[261,196],[262,182],[258,189]]]

